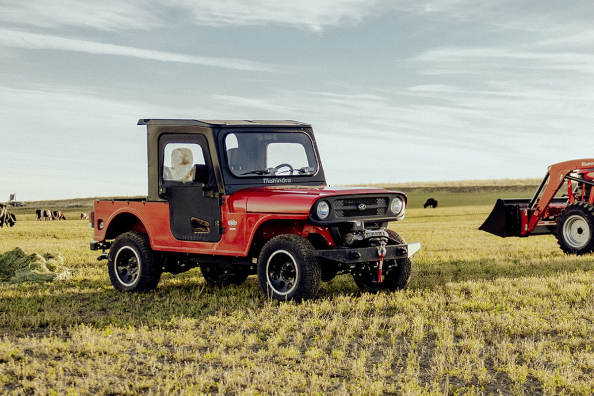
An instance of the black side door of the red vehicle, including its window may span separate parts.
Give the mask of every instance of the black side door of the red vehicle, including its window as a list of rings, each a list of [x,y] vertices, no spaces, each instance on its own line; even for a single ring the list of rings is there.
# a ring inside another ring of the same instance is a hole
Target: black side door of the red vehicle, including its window
[[[159,156],[159,195],[169,201],[173,236],[179,240],[219,241],[221,207],[206,137],[163,134],[159,138]],[[194,181],[195,172],[200,172],[200,179],[206,182]]]

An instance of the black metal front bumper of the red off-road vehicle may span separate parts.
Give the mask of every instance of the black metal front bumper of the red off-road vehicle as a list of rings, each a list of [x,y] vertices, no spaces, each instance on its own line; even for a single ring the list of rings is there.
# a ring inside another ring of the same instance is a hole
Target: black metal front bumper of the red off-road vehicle
[[[419,249],[421,242],[403,243],[402,245],[386,245],[384,260],[410,258]],[[344,264],[357,264],[359,262],[379,261],[380,254],[377,247],[361,248],[334,248],[314,251],[314,256]]]

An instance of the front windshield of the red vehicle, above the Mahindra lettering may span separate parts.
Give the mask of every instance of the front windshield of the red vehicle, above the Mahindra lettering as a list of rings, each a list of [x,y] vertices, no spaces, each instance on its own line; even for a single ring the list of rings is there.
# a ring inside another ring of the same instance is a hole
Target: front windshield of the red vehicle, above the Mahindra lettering
[[[225,137],[235,176],[307,176],[318,170],[311,139],[302,132],[245,132]]]

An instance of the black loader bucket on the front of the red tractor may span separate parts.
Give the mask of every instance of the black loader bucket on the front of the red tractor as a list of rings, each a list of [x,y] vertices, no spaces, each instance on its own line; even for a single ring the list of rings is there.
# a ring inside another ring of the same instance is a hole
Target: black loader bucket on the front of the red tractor
[[[522,235],[520,213],[528,207],[530,198],[497,199],[495,207],[479,230],[500,236]]]

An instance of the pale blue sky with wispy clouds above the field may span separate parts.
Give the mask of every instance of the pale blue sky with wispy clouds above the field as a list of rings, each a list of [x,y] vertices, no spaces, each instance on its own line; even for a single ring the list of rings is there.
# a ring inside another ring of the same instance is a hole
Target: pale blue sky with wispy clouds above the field
[[[0,0],[0,53],[0,201],[146,195],[145,118],[311,123],[334,186],[594,157],[591,0]]]

